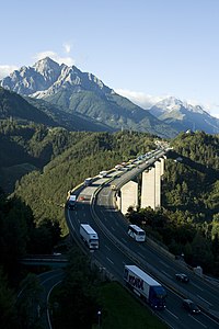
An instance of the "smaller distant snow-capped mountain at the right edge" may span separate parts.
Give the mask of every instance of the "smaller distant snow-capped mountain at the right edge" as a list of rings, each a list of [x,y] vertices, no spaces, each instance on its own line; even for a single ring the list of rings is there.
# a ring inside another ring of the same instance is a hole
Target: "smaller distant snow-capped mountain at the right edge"
[[[173,97],[166,98],[150,109],[150,113],[173,128],[181,131],[204,131],[208,134],[219,134],[219,120],[203,110]]]

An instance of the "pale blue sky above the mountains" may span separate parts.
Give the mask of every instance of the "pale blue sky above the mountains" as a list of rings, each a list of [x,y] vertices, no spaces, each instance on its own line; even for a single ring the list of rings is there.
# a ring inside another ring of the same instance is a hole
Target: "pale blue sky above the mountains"
[[[10,0],[0,78],[50,56],[136,103],[173,95],[219,117],[218,0]]]

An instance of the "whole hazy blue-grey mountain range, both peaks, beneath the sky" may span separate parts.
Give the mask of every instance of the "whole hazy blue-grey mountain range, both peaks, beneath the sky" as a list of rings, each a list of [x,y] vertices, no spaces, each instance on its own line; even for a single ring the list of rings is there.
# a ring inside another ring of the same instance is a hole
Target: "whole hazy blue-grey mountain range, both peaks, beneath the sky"
[[[170,98],[147,111],[117,94],[94,75],[76,66],[59,65],[49,57],[33,67],[14,70],[0,86],[72,129],[130,129],[161,137],[174,137],[187,129],[219,133],[219,120],[200,106]]]

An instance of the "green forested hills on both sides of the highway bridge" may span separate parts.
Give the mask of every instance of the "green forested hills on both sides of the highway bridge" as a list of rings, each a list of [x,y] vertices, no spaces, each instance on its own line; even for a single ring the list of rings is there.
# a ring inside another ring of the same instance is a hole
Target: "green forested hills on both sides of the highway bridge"
[[[14,195],[31,207],[35,223],[56,218],[65,235],[68,231],[64,216],[67,191],[101,170],[155,148],[155,139],[158,137],[146,133],[68,132],[8,122],[1,126],[0,143],[4,150],[1,172],[7,171],[8,179],[21,179]],[[143,217],[146,229],[173,253],[183,252],[192,264],[208,264],[207,270],[212,272],[219,253],[218,136],[182,133],[171,146],[162,182],[163,207],[159,212],[140,209],[139,220]],[[10,157],[11,149],[13,157]],[[27,174],[24,174],[25,169],[28,169]],[[130,220],[132,215],[136,219],[136,214],[131,214]],[[205,252],[194,253],[196,248],[198,250],[194,243],[204,246],[203,240],[207,243]]]

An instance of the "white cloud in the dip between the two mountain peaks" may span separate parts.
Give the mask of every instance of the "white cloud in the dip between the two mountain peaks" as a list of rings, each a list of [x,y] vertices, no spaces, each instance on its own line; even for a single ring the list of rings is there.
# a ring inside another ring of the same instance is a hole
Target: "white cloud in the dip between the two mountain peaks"
[[[143,109],[150,109],[152,105],[155,103],[162,101],[166,97],[153,97],[150,94],[146,94],[143,92],[139,91],[130,91],[130,90],[125,90],[125,89],[117,89],[115,90],[118,94],[129,99],[131,102],[135,104],[143,107]]]

